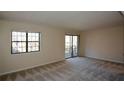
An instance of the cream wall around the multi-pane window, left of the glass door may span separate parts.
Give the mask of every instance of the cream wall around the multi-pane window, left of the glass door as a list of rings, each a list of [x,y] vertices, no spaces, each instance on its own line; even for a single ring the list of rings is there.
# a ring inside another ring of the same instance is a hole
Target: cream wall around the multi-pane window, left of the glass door
[[[40,52],[11,54],[11,31],[41,32]],[[64,35],[60,29],[0,21],[0,74],[44,65],[64,59]]]

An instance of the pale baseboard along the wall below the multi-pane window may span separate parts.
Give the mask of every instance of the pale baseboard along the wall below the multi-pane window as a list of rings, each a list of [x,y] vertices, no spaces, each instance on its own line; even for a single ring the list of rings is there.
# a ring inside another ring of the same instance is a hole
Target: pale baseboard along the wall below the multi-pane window
[[[22,68],[22,69],[17,69],[17,70],[14,70],[14,71],[4,72],[4,73],[0,73],[0,76],[6,75],[6,74],[10,74],[10,73],[19,72],[19,71],[23,71],[23,70],[27,70],[27,69],[31,69],[31,68],[35,68],[35,67],[38,67],[38,66],[47,65],[47,64],[50,64],[50,63],[60,62],[60,61],[64,61],[64,60],[65,59],[59,59],[59,60],[47,62],[46,64],[39,64],[39,65],[30,66],[30,67],[26,67],[26,68]]]

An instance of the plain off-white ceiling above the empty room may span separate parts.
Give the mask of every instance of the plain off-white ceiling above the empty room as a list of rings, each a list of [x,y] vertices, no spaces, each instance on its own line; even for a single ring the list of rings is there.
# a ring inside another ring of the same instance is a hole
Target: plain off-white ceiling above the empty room
[[[124,17],[116,11],[1,11],[0,19],[44,24],[82,31],[118,25],[124,22]]]

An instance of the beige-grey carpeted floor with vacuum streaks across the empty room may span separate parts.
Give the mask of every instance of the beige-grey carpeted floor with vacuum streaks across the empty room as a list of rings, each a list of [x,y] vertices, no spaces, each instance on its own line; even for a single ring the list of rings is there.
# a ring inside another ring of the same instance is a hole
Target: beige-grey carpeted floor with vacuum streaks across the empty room
[[[1,81],[124,81],[124,64],[76,57],[0,76]]]

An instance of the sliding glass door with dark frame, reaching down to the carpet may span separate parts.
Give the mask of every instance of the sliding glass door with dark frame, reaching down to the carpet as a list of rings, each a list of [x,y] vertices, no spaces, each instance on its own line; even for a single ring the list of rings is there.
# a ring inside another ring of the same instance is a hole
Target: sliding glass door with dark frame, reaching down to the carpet
[[[79,36],[65,36],[65,58],[78,56],[78,39]]]

